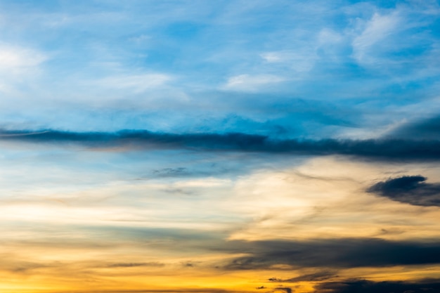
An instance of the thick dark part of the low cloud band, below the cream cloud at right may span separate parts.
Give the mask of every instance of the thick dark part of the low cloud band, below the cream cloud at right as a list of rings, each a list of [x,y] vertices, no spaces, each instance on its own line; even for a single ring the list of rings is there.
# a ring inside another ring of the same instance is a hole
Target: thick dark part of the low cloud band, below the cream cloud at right
[[[310,241],[233,241],[230,252],[244,253],[226,263],[226,270],[270,269],[276,265],[299,268],[356,268],[440,263],[440,242],[397,242],[377,238],[342,238]],[[326,278],[328,275],[321,275]],[[319,278],[318,275],[297,279]],[[272,281],[280,281],[271,278]],[[294,281],[292,278],[290,281]]]

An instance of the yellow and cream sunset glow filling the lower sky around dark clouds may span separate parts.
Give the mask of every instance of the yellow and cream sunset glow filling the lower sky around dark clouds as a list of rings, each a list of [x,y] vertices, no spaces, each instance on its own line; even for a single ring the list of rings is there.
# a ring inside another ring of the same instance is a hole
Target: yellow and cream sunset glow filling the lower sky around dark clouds
[[[409,175],[440,178],[440,169],[432,164],[414,164],[411,169]],[[275,290],[280,284],[268,278],[289,279],[318,268],[226,271],[215,266],[238,254],[202,248],[183,253],[178,241],[170,242],[174,247],[159,244],[152,248],[108,228],[195,229],[248,241],[440,237],[438,207],[417,207],[365,192],[377,181],[402,174],[407,173],[400,164],[384,169],[380,164],[324,157],[297,168],[256,171],[235,181],[179,178],[174,182],[101,184],[69,193],[50,188],[29,190],[29,195],[22,191],[20,197],[3,200],[0,206],[4,223],[0,227],[0,255],[4,256],[0,291],[198,287],[208,288],[207,292],[209,288],[260,292],[256,288],[261,286]],[[117,268],[114,263],[162,265]],[[371,280],[414,280],[439,273],[440,268],[432,266],[396,266],[380,271],[341,269],[337,275],[340,279],[361,275]],[[296,285],[302,292],[313,292],[313,282]]]

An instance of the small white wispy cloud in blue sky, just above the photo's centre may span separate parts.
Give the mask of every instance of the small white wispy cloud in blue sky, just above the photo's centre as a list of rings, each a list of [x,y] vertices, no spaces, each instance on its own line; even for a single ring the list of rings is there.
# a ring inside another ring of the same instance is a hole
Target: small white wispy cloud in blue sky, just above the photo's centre
[[[285,82],[286,80],[287,79],[285,79],[284,77],[271,74],[240,74],[230,77],[228,79],[228,82],[224,86],[224,89],[253,91],[260,89],[261,86]]]

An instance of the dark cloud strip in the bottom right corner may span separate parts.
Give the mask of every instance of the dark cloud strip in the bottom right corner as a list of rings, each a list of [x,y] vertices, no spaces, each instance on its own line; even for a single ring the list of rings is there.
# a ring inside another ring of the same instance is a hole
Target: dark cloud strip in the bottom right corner
[[[317,292],[328,293],[439,293],[440,280],[419,280],[418,282],[346,280],[324,282],[315,289]]]

